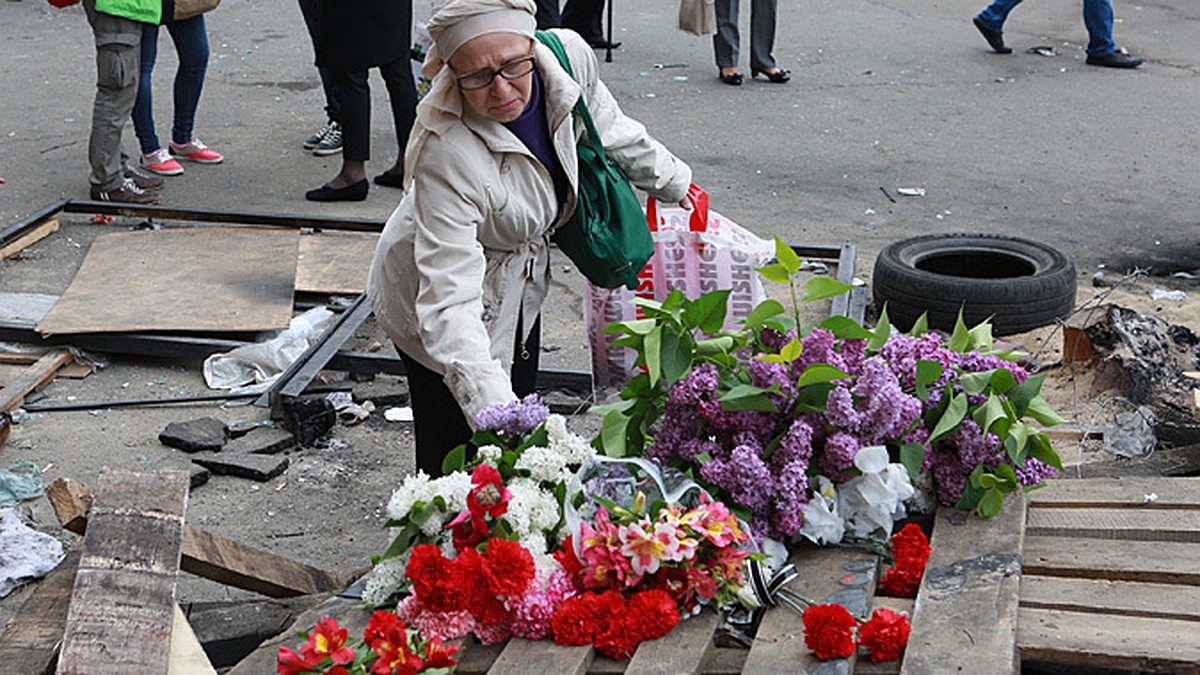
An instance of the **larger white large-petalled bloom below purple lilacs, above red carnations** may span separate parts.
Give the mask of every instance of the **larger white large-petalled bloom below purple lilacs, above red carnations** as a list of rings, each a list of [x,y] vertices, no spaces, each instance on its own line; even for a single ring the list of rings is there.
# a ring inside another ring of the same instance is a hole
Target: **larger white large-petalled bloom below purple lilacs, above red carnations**
[[[883,530],[892,534],[892,524],[905,516],[904,502],[913,495],[908,471],[901,464],[888,464],[888,449],[868,446],[854,455],[854,467],[863,472],[838,491],[838,507],[851,532],[859,537]]]

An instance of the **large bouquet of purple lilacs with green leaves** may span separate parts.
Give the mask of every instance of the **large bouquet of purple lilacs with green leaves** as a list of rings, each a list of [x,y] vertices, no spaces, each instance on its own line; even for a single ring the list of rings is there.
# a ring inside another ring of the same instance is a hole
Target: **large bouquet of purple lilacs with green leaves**
[[[716,291],[640,299],[644,319],[610,325],[643,372],[606,406],[607,454],[688,472],[755,537],[821,543],[846,530],[890,533],[904,503],[928,494],[994,515],[1004,492],[1061,468],[1026,419],[1061,422],[1042,377],[994,351],[986,323],[960,319],[943,338],[918,322],[893,335],[884,312],[875,330],[845,317],[800,329],[800,301],[848,286],[817,277],[796,299],[799,258],[778,239],[776,257],[760,271],[792,285],[792,316],[767,300],[742,329],[724,330],[727,292]]]

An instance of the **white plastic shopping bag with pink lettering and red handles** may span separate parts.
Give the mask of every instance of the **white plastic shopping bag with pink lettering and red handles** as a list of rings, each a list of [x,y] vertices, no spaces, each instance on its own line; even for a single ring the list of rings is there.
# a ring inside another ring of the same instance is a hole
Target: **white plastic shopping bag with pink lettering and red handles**
[[[692,185],[688,191],[691,210],[647,201],[647,222],[654,234],[654,256],[638,275],[636,291],[586,285],[584,321],[592,351],[592,384],[596,400],[624,387],[637,354],[613,347],[617,335],[605,335],[606,325],[641,318],[634,298],[665,300],[672,289],[689,299],[709,291],[728,289],[726,327],[750,316],[766,298],[755,271],[775,257],[775,244],[762,239],[708,208],[708,193]]]

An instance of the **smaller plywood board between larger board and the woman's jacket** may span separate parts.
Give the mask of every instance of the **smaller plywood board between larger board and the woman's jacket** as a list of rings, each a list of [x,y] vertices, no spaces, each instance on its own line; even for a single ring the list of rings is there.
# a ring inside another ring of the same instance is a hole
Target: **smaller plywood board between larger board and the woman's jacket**
[[[358,295],[367,287],[367,271],[379,234],[320,232],[300,237],[296,291]]]

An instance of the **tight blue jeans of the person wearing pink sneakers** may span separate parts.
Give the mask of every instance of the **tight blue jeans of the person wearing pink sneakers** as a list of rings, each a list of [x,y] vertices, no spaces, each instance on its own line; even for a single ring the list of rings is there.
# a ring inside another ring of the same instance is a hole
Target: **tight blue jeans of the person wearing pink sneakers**
[[[204,89],[204,73],[209,68],[209,35],[204,26],[204,14],[181,22],[167,22],[167,31],[179,54],[175,71],[175,114],[170,127],[170,139],[179,145],[191,143],[196,129],[196,107]],[[138,135],[142,154],[149,155],[162,148],[154,127],[154,101],[150,90],[154,61],[158,55],[158,26],[143,24],[142,29],[142,77],[138,79],[138,100],[133,106],[133,131]]]

